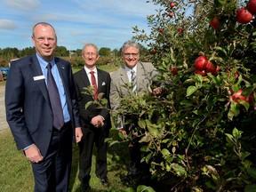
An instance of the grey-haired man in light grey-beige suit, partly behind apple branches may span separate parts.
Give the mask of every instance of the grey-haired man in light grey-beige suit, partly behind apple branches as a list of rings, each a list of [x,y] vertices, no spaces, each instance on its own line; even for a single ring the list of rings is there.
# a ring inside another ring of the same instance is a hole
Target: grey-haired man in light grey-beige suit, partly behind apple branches
[[[139,44],[134,41],[127,41],[123,44],[122,58],[124,60],[124,66],[118,68],[111,76],[109,97],[114,119],[116,119],[116,129],[118,132],[122,132],[124,137],[126,137],[129,124],[125,124],[124,126],[124,116],[119,116],[117,113],[117,110],[122,108],[120,99],[130,97],[131,91],[136,94],[140,94],[140,92],[149,92],[148,86],[153,84],[154,79],[156,76],[159,76],[159,73],[152,63],[139,61],[140,47]],[[131,86],[127,86],[127,84],[130,84]],[[159,93],[161,93],[160,87],[153,90],[153,94]],[[127,116],[125,116],[125,118],[126,117]],[[132,121],[133,123],[136,122],[136,117],[135,119],[132,119]],[[129,145],[132,146],[129,148],[132,164],[123,181],[132,180],[143,171],[141,170],[141,167],[143,166],[140,164],[140,143],[137,140],[130,144],[132,144]]]

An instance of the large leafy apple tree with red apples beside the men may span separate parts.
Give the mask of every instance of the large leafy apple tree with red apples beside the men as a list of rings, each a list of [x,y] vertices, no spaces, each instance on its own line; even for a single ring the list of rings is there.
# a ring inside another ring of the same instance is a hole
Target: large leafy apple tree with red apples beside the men
[[[120,110],[139,117],[141,161],[163,191],[255,191],[255,0],[148,2],[160,8],[134,38],[164,92]]]

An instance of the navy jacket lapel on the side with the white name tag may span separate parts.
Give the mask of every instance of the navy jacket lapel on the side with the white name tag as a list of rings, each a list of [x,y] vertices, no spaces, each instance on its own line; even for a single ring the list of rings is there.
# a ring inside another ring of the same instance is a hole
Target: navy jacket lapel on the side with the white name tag
[[[39,61],[36,58],[36,54],[31,57],[31,63],[29,63],[30,68],[32,70],[32,75],[34,76],[44,76],[42,69],[40,67]],[[46,84],[44,82],[44,79],[36,81],[36,84],[38,84],[38,87],[40,88],[41,92],[44,95],[44,99],[50,104],[48,90],[46,87]],[[51,104],[50,104],[51,106]]]

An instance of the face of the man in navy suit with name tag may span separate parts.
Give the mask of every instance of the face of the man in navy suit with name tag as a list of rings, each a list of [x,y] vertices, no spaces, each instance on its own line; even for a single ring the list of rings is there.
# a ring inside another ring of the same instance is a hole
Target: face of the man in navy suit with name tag
[[[57,46],[57,38],[51,26],[37,25],[34,29],[32,42],[36,47],[37,54],[46,61],[53,59],[53,52]]]

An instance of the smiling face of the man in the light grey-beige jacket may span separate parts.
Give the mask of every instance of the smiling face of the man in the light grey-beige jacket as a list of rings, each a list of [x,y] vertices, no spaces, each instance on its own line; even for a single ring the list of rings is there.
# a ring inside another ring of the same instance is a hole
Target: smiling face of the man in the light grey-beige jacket
[[[139,49],[136,47],[127,47],[122,53],[122,58],[128,68],[135,67],[138,60],[140,60]]]

